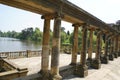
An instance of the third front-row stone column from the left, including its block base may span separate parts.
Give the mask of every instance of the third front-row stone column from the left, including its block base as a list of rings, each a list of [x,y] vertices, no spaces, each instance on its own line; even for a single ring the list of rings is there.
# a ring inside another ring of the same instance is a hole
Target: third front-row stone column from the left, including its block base
[[[99,69],[101,67],[100,54],[101,54],[101,34],[102,31],[97,33],[97,46],[95,59],[92,62],[92,68]]]

